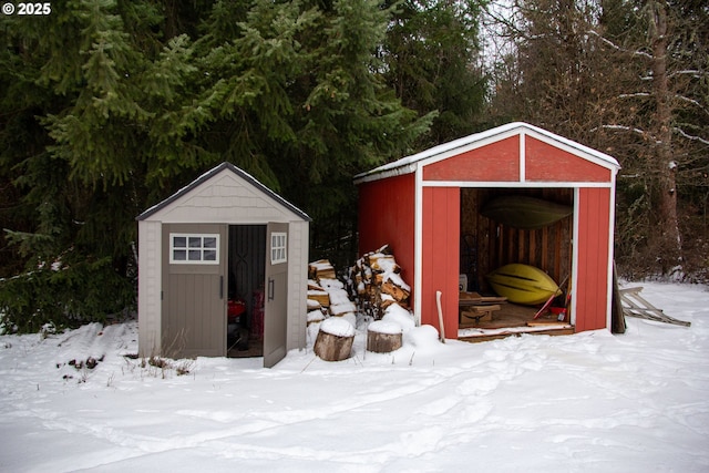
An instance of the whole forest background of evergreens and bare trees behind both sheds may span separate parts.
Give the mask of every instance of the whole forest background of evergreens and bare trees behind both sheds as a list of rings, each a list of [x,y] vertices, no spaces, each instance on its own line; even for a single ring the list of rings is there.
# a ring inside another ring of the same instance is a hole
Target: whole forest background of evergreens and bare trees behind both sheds
[[[525,121],[615,156],[616,261],[707,281],[705,0],[62,0],[0,14],[6,330],[135,304],[135,216],[228,161],[356,255],[352,176]]]

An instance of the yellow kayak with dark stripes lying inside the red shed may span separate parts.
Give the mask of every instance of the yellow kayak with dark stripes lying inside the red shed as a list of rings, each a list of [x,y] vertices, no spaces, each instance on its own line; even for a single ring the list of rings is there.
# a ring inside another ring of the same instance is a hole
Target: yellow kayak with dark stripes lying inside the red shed
[[[521,263],[497,268],[486,278],[495,292],[506,297],[510,302],[534,306],[562,294],[549,275],[540,268]]]

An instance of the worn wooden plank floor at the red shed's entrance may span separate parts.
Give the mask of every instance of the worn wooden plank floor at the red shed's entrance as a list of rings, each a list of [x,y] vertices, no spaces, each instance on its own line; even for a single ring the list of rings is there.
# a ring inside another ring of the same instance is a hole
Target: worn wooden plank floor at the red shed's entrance
[[[558,321],[555,315],[545,313],[534,319],[537,308],[503,304],[501,309],[493,312],[490,321],[475,322],[474,319],[462,317],[459,326],[458,339],[462,341],[487,341],[500,338],[534,335],[572,335],[574,327],[568,321]]]

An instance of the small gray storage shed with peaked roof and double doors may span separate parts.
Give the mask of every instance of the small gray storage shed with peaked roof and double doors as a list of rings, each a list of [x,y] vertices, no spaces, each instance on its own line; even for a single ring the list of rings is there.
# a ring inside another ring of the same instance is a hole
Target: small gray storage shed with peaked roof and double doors
[[[227,356],[237,302],[265,367],[305,348],[308,215],[223,163],[137,222],[140,357]]]

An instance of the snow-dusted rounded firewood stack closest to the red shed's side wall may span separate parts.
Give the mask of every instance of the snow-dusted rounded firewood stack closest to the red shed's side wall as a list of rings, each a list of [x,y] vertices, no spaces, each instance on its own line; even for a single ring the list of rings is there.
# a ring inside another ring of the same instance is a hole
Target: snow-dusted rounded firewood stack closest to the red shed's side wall
[[[349,270],[347,286],[360,311],[374,320],[392,304],[409,306],[411,287],[401,278],[401,267],[388,245],[358,259]]]

